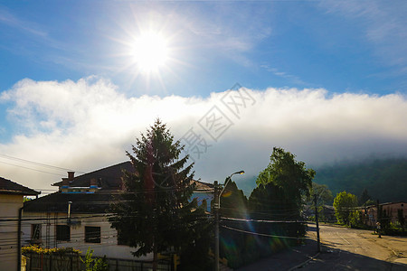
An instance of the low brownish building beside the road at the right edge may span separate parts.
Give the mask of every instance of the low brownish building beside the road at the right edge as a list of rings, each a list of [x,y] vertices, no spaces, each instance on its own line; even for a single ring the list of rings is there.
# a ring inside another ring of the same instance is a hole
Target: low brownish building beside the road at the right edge
[[[391,223],[398,221],[399,211],[402,211],[404,220],[407,221],[407,204],[404,201],[387,202],[379,204],[382,209],[383,219],[388,219]],[[377,222],[377,205],[370,205],[361,208],[364,224],[370,227],[376,227]]]

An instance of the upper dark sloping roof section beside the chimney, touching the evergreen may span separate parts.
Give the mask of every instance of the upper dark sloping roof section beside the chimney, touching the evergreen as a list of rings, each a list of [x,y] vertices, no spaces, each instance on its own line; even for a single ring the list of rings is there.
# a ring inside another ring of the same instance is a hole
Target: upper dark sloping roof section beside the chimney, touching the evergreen
[[[132,173],[135,172],[134,167],[128,161],[77,176],[70,182],[70,186],[89,187],[90,180],[96,179],[98,186],[102,189],[118,190],[121,188],[121,176],[123,175],[123,170]],[[52,186],[62,186],[62,182],[55,182]]]

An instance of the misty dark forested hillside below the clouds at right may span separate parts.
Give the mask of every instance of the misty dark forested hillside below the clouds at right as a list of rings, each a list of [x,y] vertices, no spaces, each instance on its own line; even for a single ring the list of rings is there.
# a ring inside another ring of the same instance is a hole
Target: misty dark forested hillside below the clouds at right
[[[351,192],[358,197],[364,188],[373,200],[407,201],[407,158],[366,159],[315,168],[314,182],[327,184],[334,196]]]

